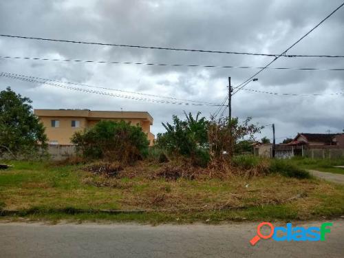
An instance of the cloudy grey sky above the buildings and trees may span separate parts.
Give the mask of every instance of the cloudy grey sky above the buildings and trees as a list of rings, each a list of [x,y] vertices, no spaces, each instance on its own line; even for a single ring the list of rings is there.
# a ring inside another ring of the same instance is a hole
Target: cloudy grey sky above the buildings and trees
[[[61,0],[0,1],[0,34],[72,41],[174,47],[228,52],[281,54],[343,1],[315,0]],[[344,7],[287,54],[344,55]],[[150,50],[0,37],[0,56],[62,58],[218,66],[262,67],[270,56]],[[271,67],[344,68],[344,58],[281,57]],[[78,88],[111,94],[222,103],[228,76],[235,87],[258,69],[168,67],[0,58],[0,72],[61,80]],[[232,114],[257,125],[275,123],[277,142],[303,133],[344,129],[344,71],[266,69],[232,98]],[[109,89],[89,88],[85,85]],[[173,105],[118,98],[0,76],[0,90],[11,87],[32,99],[36,109],[148,111],[153,133],[172,115],[214,114],[218,107]],[[110,89],[138,92],[129,94]],[[340,93],[340,94],[337,94]],[[343,93],[343,94],[341,94]],[[152,94],[155,96],[142,96]],[[185,102],[185,101],[182,101]],[[224,111],[226,115],[228,109]],[[272,138],[270,126],[257,138]]]

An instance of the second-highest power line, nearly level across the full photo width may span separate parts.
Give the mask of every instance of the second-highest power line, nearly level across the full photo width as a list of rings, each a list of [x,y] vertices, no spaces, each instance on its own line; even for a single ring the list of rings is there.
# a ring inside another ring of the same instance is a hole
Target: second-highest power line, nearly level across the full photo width
[[[0,58],[33,60],[33,61],[104,63],[104,64],[111,64],[111,65],[151,65],[151,66],[172,66],[172,67],[233,68],[233,69],[263,69],[264,68],[264,67],[232,66],[232,65],[191,65],[191,64],[171,64],[171,63],[92,61],[92,60],[62,59],[62,58],[39,58],[39,57],[28,57],[28,56],[0,56]],[[287,70],[301,70],[301,71],[344,71],[344,68],[314,68],[314,67],[313,68],[307,68],[307,67],[266,67],[266,69],[287,69]]]

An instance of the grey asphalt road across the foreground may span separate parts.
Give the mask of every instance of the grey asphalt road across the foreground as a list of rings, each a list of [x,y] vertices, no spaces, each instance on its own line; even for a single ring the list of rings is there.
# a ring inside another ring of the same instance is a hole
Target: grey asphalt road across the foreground
[[[256,246],[250,246],[249,241],[255,236],[257,223],[219,226],[1,223],[0,257],[344,257],[344,219],[332,222],[325,241],[268,239]]]

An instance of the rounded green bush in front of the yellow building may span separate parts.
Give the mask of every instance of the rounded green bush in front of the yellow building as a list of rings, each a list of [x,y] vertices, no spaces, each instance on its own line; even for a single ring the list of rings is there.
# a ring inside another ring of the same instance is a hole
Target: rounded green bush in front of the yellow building
[[[94,127],[77,131],[72,142],[85,158],[134,162],[148,153],[149,140],[141,127],[120,121],[100,121]]]

